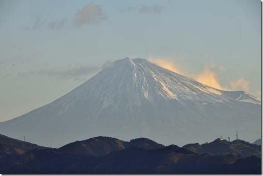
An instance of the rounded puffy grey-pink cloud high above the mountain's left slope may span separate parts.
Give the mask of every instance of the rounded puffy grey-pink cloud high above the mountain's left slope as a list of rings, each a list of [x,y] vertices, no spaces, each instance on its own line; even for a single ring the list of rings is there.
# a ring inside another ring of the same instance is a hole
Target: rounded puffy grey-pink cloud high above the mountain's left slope
[[[107,19],[107,16],[102,11],[102,8],[90,2],[75,14],[73,23],[78,26],[98,24],[105,19]]]

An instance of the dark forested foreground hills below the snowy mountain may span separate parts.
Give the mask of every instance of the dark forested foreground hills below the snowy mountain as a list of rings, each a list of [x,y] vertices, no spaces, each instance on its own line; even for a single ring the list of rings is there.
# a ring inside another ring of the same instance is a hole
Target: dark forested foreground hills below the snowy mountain
[[[0,144],[1,174],[261,174],[261,146],[242,140],[179,147],[100,136],[32,148],[7,139]]]

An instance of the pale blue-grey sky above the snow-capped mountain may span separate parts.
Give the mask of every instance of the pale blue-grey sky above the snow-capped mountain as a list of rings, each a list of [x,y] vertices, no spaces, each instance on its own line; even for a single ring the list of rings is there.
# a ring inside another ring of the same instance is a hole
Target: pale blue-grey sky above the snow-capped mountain
[[[188,76],[208,67],[221,87],[261,97],[261,1],[0,0],[0,121],[127,56],[165,59]]]

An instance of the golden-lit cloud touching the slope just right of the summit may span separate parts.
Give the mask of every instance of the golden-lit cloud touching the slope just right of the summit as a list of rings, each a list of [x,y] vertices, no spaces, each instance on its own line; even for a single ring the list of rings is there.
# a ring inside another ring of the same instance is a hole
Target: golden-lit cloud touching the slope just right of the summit
[[[148,60],[153,64],[157,64],[158,66],[166,68],[167,70],[171,70],[180,75],[184,75],[182,71],[178,69],[178,66],[176,66],[174,61],[168,59],[152,59],[151,57]]]

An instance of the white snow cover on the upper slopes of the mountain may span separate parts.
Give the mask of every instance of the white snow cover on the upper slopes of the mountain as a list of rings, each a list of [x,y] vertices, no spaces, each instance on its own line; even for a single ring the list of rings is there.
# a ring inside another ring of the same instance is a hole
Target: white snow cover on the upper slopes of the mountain
[[[151,64],[145,59],[131,58],[117,60],[114,66],[102,70],[92,80],[87,81],[83,86],[77,88],[77,91],[73,91],[56,104],[64,104],[66,110],[78,100],[85,101],[90,94],[100,97],[99,106],[96,107],[97,115],[110,104],[118,105],[120,102],[114,101],[114,97],[123,94],[130,100],[128,106],[134,103],[140,105],[141,99],[145,98],[151,103],[154,103],[155,98],[162,98],[176,99],[182,104],[184,100],[207,104],[228,102],[228,98],[233,98],[231,92],[226,93],[226,91],[206,86],[191,78]],[[234,92],[234,94],[240,97],[247,95],[243,91]],[[233,99],[245,100],[240,97]],[[260,103],[250,95],[247,98],[249,102]]]

